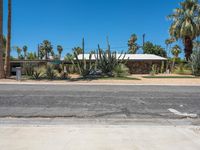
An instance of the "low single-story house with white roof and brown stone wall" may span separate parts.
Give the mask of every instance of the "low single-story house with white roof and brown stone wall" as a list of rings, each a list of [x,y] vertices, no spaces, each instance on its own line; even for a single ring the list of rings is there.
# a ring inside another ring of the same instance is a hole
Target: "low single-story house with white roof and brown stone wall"
[[[152,70],[152,65],[157,65],[158,68],[161,68],[161,65],[167,61],[166,58],[152,55],[152,54],[126,54],[121,55],[117,54],[116,56],[118,59],[124,60],[126,62],[126,66],[129,68],[131,74],[149,74]],[[79,60],[83,59],[83,55],[80,54],[78,56]],[[95,61],[97,58],[96,54],[93,54],[91,57],[92,61]],[[86,61],[90,60],[90,54],[84,54],[84,59]],[[40,65],[45,65],[47,63],[53,63],[53,64],[62,64],[64,63],[66,66],[70,65],[71,62],[66,62],[64,60],[58,61],[58,60],[14,60],[11,61],[11,72],[12,74],[15,74],[15,68],[16,67],[22,67],[26,63],[33,63]]]

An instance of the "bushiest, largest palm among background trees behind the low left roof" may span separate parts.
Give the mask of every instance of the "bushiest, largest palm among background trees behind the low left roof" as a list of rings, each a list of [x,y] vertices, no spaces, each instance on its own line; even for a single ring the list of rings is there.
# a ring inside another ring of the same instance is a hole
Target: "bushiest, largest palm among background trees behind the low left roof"
[[[43,43],[40,45],[40,57],[43,58],[45,56],[45,59],[49,59],[49,54],[53,53],[53,46],[51,45],[51,42],[48,40],[44,40]]]

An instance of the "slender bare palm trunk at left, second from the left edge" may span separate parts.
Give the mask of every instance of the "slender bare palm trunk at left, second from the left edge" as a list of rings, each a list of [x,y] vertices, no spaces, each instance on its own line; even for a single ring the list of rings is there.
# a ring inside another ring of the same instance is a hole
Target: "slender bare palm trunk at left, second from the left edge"
[[[12,0],[8,0],[8,35],[6,43],[6,57],[5,57],[6,77],[10,76],[11,15],[12,15]]]

